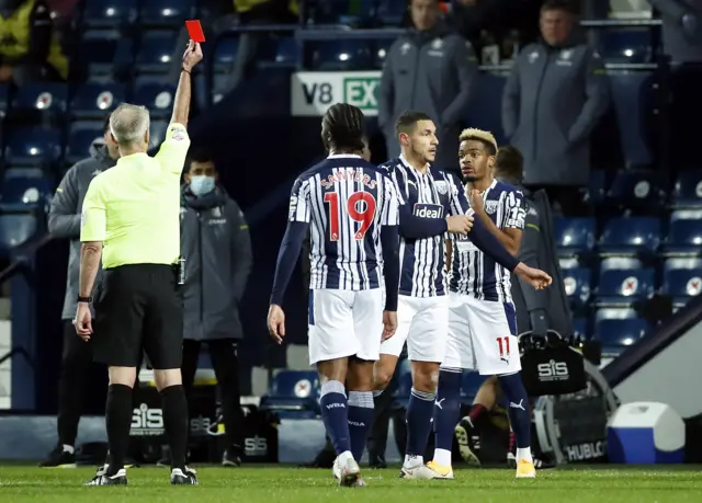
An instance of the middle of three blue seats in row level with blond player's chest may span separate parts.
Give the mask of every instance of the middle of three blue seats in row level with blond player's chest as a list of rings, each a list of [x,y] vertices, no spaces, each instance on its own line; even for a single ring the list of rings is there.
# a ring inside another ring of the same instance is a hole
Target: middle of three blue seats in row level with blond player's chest
[[[618,217],[604,224],[600,255],[653,254],[660,243],[660,221],[653,217]]]

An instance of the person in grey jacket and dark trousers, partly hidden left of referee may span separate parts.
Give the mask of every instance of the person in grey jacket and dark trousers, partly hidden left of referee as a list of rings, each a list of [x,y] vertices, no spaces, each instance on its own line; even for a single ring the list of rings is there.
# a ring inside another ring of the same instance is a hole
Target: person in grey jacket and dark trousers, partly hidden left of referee
[[[117,144],[110,134],[110,116],[105,118],[103,137],[90,146],[90,157],[77,162],[64,175],[48,213],[48,231],[55,238],[70,239],[66,298],[64,299],[64,351],[58,377],[58,444],[41,467],[75,466],[76,436],[83,405],[86,380],[92,365],[92,344],[76,336],[72,324],[78,297],[80,268],[80,212],[92,179],[112,168],[120,158]],[[95,284],[101,281],[98,273]]]

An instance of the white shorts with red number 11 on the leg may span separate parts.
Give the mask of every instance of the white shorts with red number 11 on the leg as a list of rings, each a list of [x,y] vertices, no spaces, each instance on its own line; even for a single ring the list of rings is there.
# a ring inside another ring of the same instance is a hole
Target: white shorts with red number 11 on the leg
[[[450,293],[442,366],[478,370],[484,376],[521,370],[514,306]]]

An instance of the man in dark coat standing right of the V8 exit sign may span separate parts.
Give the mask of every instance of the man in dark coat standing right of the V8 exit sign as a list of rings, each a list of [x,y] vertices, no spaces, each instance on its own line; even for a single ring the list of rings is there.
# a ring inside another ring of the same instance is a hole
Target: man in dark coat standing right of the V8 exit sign
[[[407,110],[427,112],[437,125],[434,165],[458,175],[458,136],[478,66],[471,43],[439,19],[438,0],[411,0],[414,28],[395,41],[383,67],[378,91],[378,127],[387,159],[399,157],[395,121]]]

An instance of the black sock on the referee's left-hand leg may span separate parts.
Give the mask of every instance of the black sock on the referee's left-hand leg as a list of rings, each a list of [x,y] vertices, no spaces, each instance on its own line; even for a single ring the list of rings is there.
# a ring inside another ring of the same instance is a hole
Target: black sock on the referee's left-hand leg
[[[112,476],[124,468],[124,457],[129,443],[132,425],[132,388],[125,385],[110,385],[105,404],[105,426],[110,445],[110,466],[107,475]]]

